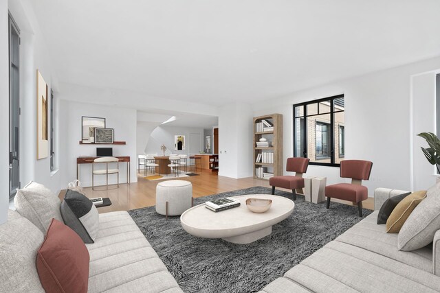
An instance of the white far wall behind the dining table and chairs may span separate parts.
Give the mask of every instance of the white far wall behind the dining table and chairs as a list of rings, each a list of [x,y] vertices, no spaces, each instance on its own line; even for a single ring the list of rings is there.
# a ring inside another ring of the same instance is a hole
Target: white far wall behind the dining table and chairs
[[[146,144],[145,152],[146,154],[162,154],[160,150],[160,145],[162,143],[166,145],[165,154],[189,154],[190,153],[190,134],[195,133],[200,135],[200,150],[203,150],[203,128],[187,128],[187,127],[177,127],[177,126],[158,126],[151,132],[151,137],[148,139]],[[174,136],[184,135],[185,136],[185,150],[174,150]],[[198,152],[197,152],[198,153]]]

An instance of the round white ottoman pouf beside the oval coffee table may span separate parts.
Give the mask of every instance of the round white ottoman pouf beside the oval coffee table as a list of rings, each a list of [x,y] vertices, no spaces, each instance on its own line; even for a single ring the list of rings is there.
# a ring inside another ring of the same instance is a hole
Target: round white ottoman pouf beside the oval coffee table
[[[156,212],[181,215],[192,207],[192,184],[184,180],[166,180],[156,186]]]

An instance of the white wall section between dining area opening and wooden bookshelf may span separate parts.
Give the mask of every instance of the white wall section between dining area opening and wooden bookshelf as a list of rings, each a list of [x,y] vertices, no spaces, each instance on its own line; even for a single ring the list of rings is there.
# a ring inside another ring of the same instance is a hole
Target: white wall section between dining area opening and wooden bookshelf
[[[219,110],[219,176],[252,176],[252,108],[234,103]]]

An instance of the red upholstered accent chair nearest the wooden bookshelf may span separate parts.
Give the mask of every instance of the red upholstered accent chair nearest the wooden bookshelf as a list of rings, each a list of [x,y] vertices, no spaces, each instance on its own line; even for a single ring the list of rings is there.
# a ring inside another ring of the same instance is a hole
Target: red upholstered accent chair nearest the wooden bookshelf
[[[295,172],[295,176],[275,176],[269,179],[272,186],[272,194],[275,194],[275,187],[292,189],[294,200],[296,200],[296,191],[303,193],[304,187],[303,173],[309,167],[309,159],[307,158],[288,158],[286,164],[287,172]]]

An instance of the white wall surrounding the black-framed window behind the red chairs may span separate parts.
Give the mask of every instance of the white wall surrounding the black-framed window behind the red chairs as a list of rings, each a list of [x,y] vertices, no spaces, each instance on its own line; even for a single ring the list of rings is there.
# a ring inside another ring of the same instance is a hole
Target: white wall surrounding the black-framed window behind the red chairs
[[[292,105],[343,93],[346,106],[345,158],[373,161],[371,178],[364,182],[369,187],[369,195],[372,196],[377,187],[409,190],[412,182],[410,75],[439,68],[440,58],[434,58],[334,82],[256,103],[253,105],[254,116],[283,114],[283,154],[286,160],[293,156]],[[419,101],[415,100],[415,103]],[[428,107],[420,110],[414,119],[432,117],[433,110]],[[423,168],[432,169],[432,166]],[[327,176],[327,185],[347,181],[340,178],[336,167],[309,166],[306,176]],[[430,181],[434,184],[434,179]]]

